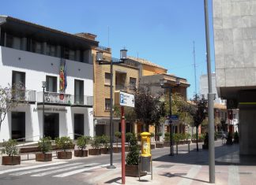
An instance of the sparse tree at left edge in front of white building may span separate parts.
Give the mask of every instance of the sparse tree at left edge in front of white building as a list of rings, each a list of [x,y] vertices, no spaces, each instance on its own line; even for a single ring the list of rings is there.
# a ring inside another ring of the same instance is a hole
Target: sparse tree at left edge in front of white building
[[[20,102],[24,102],[24,86],[22,83],[13,85],[13,87],[10,85],[8,87],[0,86],[0,131],[6,114],[17,107]]]

